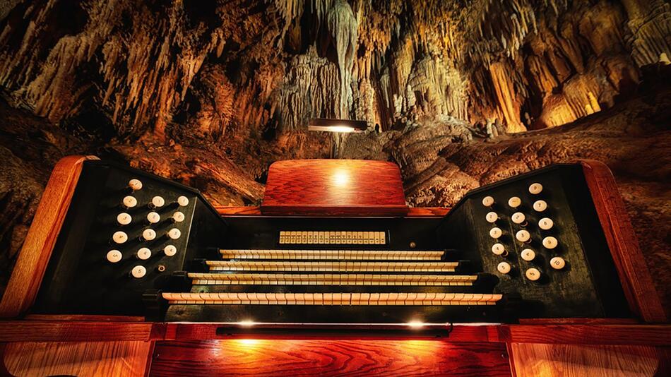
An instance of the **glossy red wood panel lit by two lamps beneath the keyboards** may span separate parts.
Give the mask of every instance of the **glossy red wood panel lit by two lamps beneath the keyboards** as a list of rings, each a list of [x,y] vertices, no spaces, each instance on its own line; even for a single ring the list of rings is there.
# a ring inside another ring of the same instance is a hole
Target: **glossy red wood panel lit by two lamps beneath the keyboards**
[[[436,340],[158,342],[150,376],[510,376],[501,343]]]

